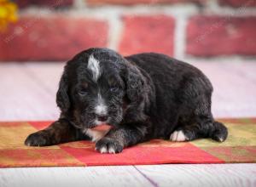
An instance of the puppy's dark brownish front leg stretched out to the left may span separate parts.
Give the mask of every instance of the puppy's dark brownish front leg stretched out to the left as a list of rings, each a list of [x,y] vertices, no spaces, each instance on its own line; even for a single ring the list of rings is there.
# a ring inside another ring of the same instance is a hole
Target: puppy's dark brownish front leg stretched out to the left
[[[28,146],[47,146],[83,139],[84,135],[79,129],[72,126],[65,119],[53,122],[49,127],[37,133],[30,134],[25,144]]]

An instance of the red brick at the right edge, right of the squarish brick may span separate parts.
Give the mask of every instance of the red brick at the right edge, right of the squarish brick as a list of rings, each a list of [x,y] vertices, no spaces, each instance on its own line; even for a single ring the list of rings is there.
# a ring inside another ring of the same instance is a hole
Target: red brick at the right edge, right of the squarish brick
[[[255,55],[256,17],[195,16],[187,26],[187,54]]]

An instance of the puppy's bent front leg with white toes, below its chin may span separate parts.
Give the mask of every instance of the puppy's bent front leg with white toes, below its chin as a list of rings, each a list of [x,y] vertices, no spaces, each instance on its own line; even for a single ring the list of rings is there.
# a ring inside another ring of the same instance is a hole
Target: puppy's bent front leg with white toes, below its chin
[[[112,128],[96,143],[96,150],[101,153],[119,153],[127,146],[143,142],[146,133],[147,128],[143,126]]]

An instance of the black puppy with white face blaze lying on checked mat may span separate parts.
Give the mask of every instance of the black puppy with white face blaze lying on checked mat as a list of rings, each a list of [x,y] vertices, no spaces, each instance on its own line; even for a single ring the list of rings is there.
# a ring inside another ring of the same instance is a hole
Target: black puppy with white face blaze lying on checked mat
[[[122,57],[90,48],[67,62],[56,94],[58,121],[30,134],[26,145],[81,139],[101,153],[119,153],[149,139],[223,142],[227,128],[211,112],[212,84],[194,66],[164,54]],[[94,127],[108,123],[110,130]]]

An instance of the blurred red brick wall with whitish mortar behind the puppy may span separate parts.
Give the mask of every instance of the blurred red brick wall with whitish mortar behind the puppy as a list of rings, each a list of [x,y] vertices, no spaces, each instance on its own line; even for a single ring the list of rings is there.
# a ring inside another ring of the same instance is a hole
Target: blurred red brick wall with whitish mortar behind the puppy
[[[16,0],[0,61],[70,59],[90,47],[178,59],[256,57],[256,0]]]

